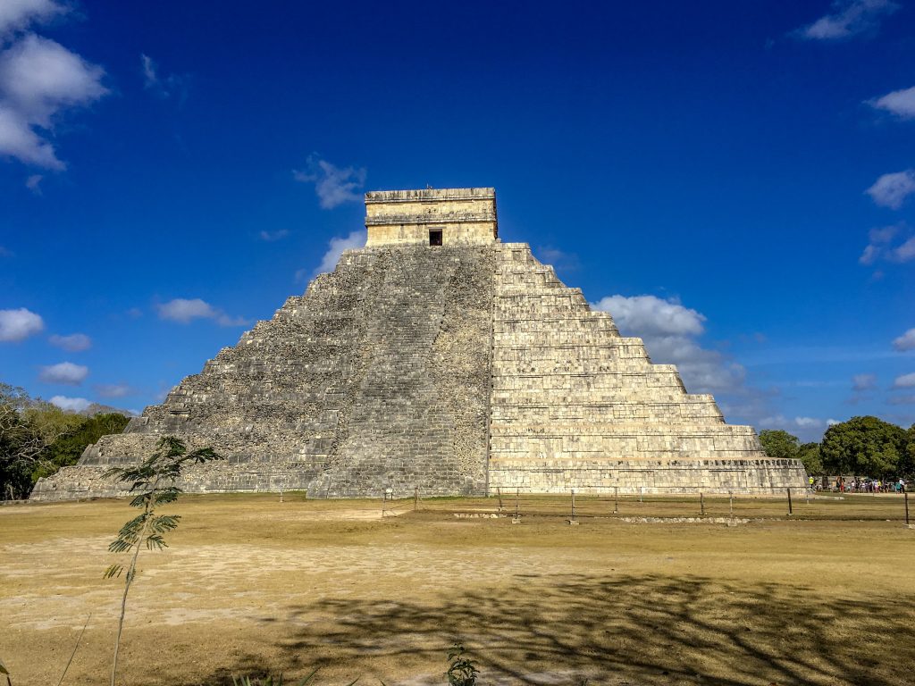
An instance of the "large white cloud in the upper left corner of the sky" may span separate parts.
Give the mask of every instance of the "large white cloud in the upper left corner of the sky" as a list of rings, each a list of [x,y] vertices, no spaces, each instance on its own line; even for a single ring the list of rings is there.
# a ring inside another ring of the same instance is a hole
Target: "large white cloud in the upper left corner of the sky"
[[[88,105],[108,90],[104,70],[48,38],[29,34],[0,53],[0,155],[27,165],[64,169],[51,131],[59,113]]]

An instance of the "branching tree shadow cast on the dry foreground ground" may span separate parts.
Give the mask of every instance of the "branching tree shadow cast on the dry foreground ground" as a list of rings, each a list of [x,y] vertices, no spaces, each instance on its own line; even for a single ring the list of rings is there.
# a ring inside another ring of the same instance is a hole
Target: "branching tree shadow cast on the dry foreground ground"
[[[828,597],[694,576],[520,574],[434,604],[404,589],[400,601],[327,599],[290,618],[290,662],[389,683],[399,681],[392,664],[444,671],[457,638],[485,683],[895,686],[915,668],[915,595]],[[443,683],[441,671],[427,681]]]

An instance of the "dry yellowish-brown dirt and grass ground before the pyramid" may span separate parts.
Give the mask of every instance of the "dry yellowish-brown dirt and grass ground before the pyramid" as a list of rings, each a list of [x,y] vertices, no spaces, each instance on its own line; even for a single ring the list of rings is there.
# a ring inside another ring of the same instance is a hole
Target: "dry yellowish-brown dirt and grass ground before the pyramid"
[[[915,531],[896,500],[864,498],[823,502],[849,520],[573,527],[559,504],[514,525],[449,511],[491,500],[401,503],[382,520],[379,501],[188,496],[171,547],[141,553],[119,681],[320,667],[318,684],[442,684],[461,639],[484,684],[910,684]],[[0,508],[0,658],[14,684],[57,683],[87,618],[65,683],[107,683],[123,582],[102,573],[133,513],[124,501]]]

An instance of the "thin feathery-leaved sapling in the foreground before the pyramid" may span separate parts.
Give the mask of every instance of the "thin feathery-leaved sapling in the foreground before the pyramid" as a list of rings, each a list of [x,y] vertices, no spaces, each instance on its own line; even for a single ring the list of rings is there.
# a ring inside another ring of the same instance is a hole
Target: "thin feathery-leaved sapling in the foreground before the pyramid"
[[[211,460],[221,460],[212,448],[199,448],[188,453],[188,448],[175,436],[163,436],[156,445],[156,452],[147,457],[137,466],[115,466],[105,472],[105,476],[113,478],[124,484],[130,484],[130,492],[135,493],[130,501],[132,508],[142,509],[139,515],[129,520],[117,538],[108,546],[110,552],[128,553],[130,562],[127,563],[124,574],[124,595],[121,598],[121,616],[118,618],[117,635],[114,638],[114,659],[112,661],[112,681],[117,674],[117,655],[121,647],[121,632],[124,629],[124,614],[127,610],[127,593],[136,576],[136,559],[140,549],[144,546],[147,550],[162,550],[167,548],[167,543],[162,537],[168,531],[178,528],[180,515],[160,515],[156,510],[169,503],[173,503],[181,494],[181,489],[175,483],[181,477],[188,465],[201,465]],[[120,576],[124,572],[124,565],[112,564],[105,570],[104,577],[110,579]]]

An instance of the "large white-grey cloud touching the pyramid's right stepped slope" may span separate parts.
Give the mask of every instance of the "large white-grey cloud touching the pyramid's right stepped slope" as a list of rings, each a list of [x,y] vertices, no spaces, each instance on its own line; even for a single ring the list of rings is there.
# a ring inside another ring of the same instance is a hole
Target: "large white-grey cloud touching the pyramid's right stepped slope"
[[[625,335],[638,336],[656,363],[675,364],[693,392],[736,391],[745,370],[694,339],[705,331],[705,316],[675,300],[654,295],[609,295],[591,305],[613,316]]]

